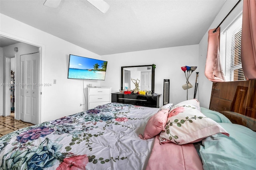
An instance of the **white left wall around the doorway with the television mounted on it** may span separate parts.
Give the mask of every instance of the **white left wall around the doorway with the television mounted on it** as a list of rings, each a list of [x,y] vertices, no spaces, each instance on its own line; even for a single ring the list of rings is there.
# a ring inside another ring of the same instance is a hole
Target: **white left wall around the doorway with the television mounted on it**
[[[100,56],[4,14],[0,14],[0,18],[0,35],[42,47],[41,83],[51,83],[52,86],[41,89],[41,122],[87,109],[87,105],[80,106],[85,102],[83,81],[67,78],[69,54],[96,59]],[[54,79],[56,84],[53,84]],[[100,81],[84,80],[85,85],[89,83],[100,86]],[[87,95],[87,88],[85,92]]]

